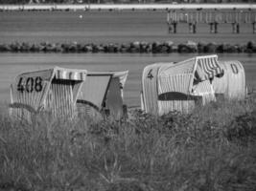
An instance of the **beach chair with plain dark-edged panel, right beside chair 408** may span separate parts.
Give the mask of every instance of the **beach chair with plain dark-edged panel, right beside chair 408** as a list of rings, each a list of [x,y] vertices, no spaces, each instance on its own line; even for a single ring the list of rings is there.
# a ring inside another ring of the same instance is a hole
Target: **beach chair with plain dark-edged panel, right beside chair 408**
[[[77,102],[86,105],[85,112],[89,116],[95,110],[107,110],[111,116],[120,118],[123,116],[123,89],[127,77],[128,71],[88,72]]]

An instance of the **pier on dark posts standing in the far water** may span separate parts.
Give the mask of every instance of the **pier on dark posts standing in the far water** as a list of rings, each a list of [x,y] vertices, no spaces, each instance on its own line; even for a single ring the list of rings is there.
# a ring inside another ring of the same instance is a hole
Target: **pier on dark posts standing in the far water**
[[[240,33],[242,23],[252,25],[252,32],[256,33],[256,11],[246,10],[204,10],[204,11],[168,11],[167,13],[168,32],[176,33],[178,23],[188,23],[189,32],[197,32],[198,23],[206,23],[210,26],[211,33],[218,33],[218,26],[221,23],[230,23],[233,33]]]

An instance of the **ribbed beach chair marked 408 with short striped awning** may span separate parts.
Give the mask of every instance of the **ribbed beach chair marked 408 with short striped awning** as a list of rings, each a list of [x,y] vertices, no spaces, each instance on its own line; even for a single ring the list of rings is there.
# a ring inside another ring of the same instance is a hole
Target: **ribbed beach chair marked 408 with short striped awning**
[[[86,74],[59,67],[19,74],[11,85],[12,115],[28,118],[44,110],[55,117],[73,117]]]

